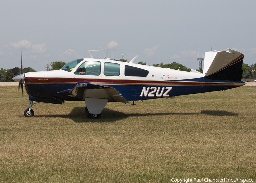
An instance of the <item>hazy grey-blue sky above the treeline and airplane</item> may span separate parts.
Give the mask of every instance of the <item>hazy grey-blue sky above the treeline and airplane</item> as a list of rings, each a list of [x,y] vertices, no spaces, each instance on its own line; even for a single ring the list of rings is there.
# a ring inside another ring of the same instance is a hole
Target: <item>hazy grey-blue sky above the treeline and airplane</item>
[[[197,58],[230,48],[256,63],[256,1],[1,0],[0,68],[45,71],[53,61],[104,54],[146,65],[198,69]]]

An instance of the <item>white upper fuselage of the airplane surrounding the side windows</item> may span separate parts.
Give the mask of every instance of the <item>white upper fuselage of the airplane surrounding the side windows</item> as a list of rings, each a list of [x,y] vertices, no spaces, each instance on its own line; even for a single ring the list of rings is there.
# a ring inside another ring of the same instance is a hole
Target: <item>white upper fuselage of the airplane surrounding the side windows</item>
[[[99,61],[101,63],[100,74],[99,75],[78,75],[75,74],[79,66],[85,61]],[[104,75],[104,63],[117,63],[120,65],[120,75],[119,76],[108,76]],[[125,76],[125,65],[141,68],[148,71],[146,77],[141,76]],[[140,65],[136,63],[128,63],[121,61],[114,61],[108,59],[94,59],[94,58],[84,58],[77,66],[71,71],[67,72],[64,70],[58,71],[39,71],[32,73],[25,73],[25,77],[38,77],[38,78],[90,78],[90,79],[113,79],[113,80],[151,80],[151,81],[170,81],[170,80],[184,80],[184,79],[193,79],[201,78],[205,75],[199,72],[186,72],[178,71],[174,69],[166,69],[161,67],[153,67],[148,65]]]

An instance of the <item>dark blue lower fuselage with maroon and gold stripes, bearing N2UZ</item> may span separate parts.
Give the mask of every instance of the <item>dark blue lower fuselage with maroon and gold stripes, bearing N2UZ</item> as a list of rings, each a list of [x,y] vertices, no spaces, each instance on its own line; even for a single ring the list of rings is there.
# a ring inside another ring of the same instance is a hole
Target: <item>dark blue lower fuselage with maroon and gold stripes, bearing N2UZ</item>
[[[56,79],[56,78],[55,78]],[[82,101],[80,99],[59,93],[73,89],[77,84],[86,83],[115,88],[127,101],[156,99],[162,97],[173,97],[194,93],[204,93],[219,90],[227,90],[243,86],[244,82],[232,82],[222,80],[210,80],[205,77],[189,80],[150,81],[150,80],[109,80],[88,79],[75,80],[72,78],[61,78],[57,81],[26,80],[25,88],[30,97],[52,99],[58,97],[63,101]],[[36,100],[35,100],[36,101]]]

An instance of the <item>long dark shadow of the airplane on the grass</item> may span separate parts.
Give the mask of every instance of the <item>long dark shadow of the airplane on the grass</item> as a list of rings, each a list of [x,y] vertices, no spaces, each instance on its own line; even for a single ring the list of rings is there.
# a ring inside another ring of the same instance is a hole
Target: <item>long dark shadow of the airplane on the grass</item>
[[[189,113],[189,112],[162,112],[162,113],[123,113],[108,108],[104,108],[101,113],[100,119],[87,119],[84,107],[74,107],[73,110],[66,115],[52,114],[52,115],[35,115],[34,117],[49,117],[49,118],[70,118],[76,123],[83,122],[115,122],[117,120],[126,119],[133,116],[158,116],[158,115],[198,115],[207,114],[211,116],[238,116],[237,113],[228,112],[224,110],[202,110],[201,113]]]

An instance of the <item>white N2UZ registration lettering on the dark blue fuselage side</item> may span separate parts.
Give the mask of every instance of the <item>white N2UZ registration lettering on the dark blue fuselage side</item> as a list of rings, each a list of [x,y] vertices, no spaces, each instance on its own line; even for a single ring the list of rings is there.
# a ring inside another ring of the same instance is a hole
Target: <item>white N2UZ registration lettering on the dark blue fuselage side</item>
[[[164,89],[167,89],[167,91],[164,93]],[[149,92],[149,90],[152,90]],[[162,90],[161,90],[161,87],[158,87],[156,88],[155,86],[152,86],[151,88],[148,86],[146,88],[146,86],[143,87],[142,91],[141,91],[141,97],[144,96],[145,97],[154,97],[155,94],[156,94],[156,97],[169,97],[168,93],[172,90],[172,87],[162,87]],[[149,93],[148,93],[149,92]],[[164,93],[164,94],[163,94]]]

